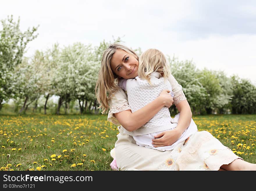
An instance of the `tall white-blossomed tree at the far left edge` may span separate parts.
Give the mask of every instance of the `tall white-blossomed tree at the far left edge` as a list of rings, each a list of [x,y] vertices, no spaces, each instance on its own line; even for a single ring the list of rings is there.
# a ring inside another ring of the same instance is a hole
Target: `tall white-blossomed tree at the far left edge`
[[[38,28],[33,27],[22,33],[19,29],[19,19],[16,23],[13,16],[1,20],[1,23],[3,29],[0,31],[0,109],[12,93],[12,72],[22,62],[26,45],[37,37],[34,33]]]

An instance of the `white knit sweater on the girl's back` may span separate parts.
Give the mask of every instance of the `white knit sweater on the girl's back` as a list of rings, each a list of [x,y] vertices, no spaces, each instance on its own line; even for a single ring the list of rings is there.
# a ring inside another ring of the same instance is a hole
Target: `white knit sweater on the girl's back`
[[[147,80],[141,80],[141,78],[138,76],[126,81],[128,103],[132,113],[154,101],[162,90],[172,90],[170,82],[168,80],[164,80],[163,77],[160,77],[161,74],[158,72],[153,72],[150,74],[150,76],[151,85],[147,82]],[[157,78],[156,76],[160,78]],[[145,135],[172,129],[176,126],[177,124],[171,123],[169,108],[164,106],[146,124],[135,131],[127,131],[124,129],[124,133],[133,136]]]

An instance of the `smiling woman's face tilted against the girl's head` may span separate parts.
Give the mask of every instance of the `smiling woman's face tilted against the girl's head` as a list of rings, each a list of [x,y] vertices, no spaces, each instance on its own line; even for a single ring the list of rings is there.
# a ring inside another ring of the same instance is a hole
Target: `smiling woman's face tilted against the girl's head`
[[[138,76],[138,60],[122,49],[116,49],[111,59],[110,67],[119,77],[130,79]]]

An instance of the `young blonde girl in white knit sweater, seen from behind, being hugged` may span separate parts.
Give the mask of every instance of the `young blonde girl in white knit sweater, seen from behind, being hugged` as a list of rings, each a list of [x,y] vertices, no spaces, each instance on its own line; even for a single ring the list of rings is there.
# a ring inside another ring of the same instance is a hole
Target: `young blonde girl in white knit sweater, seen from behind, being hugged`
[[[169,77],[168,62],[161,51],[148,49],[140,56],[139,63],[137,77],[132,79],[122,78],[119,81],[120,88],[127,92],[128,103],[132,113],[156,99],[161,91],[165,89],[172,90],[171,84],[167,80]],[[173,97],[172,91],[170,94]],[[124,128],[124,133],[132,135],[136,144],[139,146],[160,151],[172,150],[177,144],[185,141],[190,135],[195,133],[197,126],[193,119],[191,119],[191,124],[175,143],[165,147],[154,147],[152,145],[154,136],[176,128],[179,114],[173,120],[171,119],[169,108],[164,106],[146,124],[133,131],[127,131]]]

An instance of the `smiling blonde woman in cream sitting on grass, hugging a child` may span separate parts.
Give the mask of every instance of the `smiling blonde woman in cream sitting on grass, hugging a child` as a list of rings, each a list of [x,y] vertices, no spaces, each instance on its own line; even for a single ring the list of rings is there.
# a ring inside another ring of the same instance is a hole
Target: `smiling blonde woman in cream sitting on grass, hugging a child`
[[[164,90],[145,107],[131,113],[125,92],[118,87],[120,78],[138,76],[138,56],[121,44],[111,44],[103,53],[102,65],[95,92],[103,113],[108,109],[108,120],[118,124],[115,143],[117,166],[122,170],[256,170],[256,165],[243,161],[207,131],[196,132],[171,151],[158,151],[136,145],[123,129],[137,128],[148,122],[163,106],[174,102],[180,117],[177,127],[163,132],[152,140],[154,147],[173,144],[191,122],[191,109],[181,85],[170,75],[168,78],[174,97]],[[157,139],[156,139],[157,138]]]

